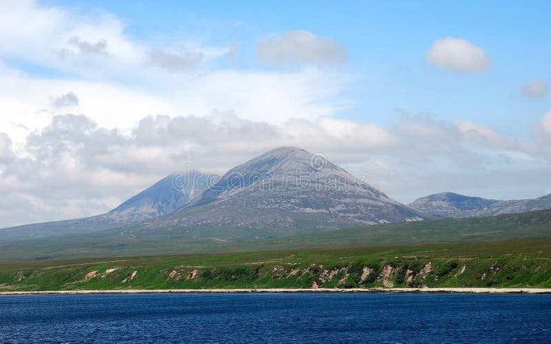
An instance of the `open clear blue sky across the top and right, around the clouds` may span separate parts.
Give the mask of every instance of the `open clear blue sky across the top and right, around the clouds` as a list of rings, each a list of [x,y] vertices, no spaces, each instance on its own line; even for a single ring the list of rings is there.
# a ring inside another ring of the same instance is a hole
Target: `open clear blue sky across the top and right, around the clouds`
[[[71,6],[73,1],[47,3]],[[256,42],[267,34],[309,30],[339,42],[349,54],[343,66],[353,74],[342,94],[353,107],[337,116],[388,125],[394,108],[463,117],[526,135],[549,99],[533,101],[519,85],[551,77],[548,1],[92,1],[82,10],[103,8],[122,18],[130,36],[149,43],[194,37],[218,45],[241,42],[238,68],[262,68]],[[483,46],[493,60],[485,74],[457,76],[427,65],[424,52],[435,39],[461,37]],[[222,61],[223,64],[226,61]],[[407,67],[408,72],[399,71]]]

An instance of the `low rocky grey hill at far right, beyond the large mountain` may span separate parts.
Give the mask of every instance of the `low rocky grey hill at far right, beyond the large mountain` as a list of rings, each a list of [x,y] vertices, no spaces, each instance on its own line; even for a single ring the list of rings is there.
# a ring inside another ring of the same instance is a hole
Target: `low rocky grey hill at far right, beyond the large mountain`
[[[551,195],[539,199],[501,201],[442,192],[416,199],[408,206],[439,218],[493,216],[551,209]]]

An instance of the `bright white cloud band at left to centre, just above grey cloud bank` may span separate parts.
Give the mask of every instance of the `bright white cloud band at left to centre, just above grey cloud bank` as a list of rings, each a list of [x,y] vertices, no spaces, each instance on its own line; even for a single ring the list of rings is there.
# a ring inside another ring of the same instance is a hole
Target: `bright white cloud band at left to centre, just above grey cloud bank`
[[[162,73],[165,74],[165,73]],[[59,94],[78,94],[79,113],[105,128],[129,130],[149,114],[208,114],[236,110],[243,119],[284,123],[291,118],[331,116],[346,107],[339,93],[349,78],[315,68],[295,72],[218,70],[202,74],[156,76],[152,92],[108,81],[43,79],[0,68],[0,128],[21,143],[30,131],[74,108],[52,107]],[[147,79],[149,80],[149,79]],[[73,103],[76,105],[76,103]],[[24,125],[28,130],[15,128]]]

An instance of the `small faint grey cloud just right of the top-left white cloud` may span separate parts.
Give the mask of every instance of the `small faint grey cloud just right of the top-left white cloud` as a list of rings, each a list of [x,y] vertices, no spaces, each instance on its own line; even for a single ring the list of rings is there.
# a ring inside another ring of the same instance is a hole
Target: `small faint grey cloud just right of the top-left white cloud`
[[[179,52],[152,50],[149,52],[149,63],[167,72],[175,73],[198,67],[204,57],[202,52],[197,50],[181,49]]]

